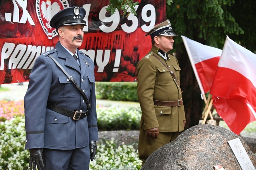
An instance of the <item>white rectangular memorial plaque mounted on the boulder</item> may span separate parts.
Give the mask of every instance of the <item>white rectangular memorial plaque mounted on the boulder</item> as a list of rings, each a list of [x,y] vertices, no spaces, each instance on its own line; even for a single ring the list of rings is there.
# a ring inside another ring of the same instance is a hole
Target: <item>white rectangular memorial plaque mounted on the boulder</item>
[[[253,163],[239,138],[229,140],[228,144],[236,156],[242,170],[255,170],[255,167],[253,166]]]

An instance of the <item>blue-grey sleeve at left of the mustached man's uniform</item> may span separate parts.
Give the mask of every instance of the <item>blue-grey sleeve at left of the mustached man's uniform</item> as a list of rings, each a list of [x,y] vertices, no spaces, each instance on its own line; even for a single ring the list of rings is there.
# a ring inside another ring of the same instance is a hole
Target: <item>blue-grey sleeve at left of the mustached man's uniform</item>
[[[45,57],[39,56],[31,71],[24,97],[26,149],[44,147],[45,112],[51,83],[51,66]]]

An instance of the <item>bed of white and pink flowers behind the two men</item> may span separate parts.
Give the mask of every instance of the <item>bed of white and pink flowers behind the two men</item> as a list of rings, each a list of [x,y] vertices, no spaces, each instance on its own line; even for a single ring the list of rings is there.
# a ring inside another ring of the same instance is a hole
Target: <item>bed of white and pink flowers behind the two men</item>
[[[0,100],[0,169],[29,169],[29,151],[25,150],[26,133],[23,105],[23,101]],[[110,127],[112,127],[111,129],[137,128],[140,118],[138,110],[121,107],[97,106],[97,115],[99,124],[102,124],[101,127],[105,127],[105,129]],[[115,124],[127,125],[114,126]],[[98,150],[95,159],[90,162],[90,169],[140,169],[142,162],[139,160],[138,150],[134,149],[134,145],[122,143],[118,146],[114,138],[98,141]]]

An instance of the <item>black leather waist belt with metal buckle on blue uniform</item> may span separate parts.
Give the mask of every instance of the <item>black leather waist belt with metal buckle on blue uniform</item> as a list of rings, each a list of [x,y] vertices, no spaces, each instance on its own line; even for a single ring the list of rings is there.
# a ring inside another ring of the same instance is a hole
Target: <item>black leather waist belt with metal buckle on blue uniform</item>
[[[83,119],[88,115],[88,110],[86,112],[79,112],[76,110],[71,111],[69,109],[66,109],[64,107],[58,106],[50,102],[47,102],[46,108],[51,109],[54,112],[60,113],[61,115],[71,117],[73,120]]]

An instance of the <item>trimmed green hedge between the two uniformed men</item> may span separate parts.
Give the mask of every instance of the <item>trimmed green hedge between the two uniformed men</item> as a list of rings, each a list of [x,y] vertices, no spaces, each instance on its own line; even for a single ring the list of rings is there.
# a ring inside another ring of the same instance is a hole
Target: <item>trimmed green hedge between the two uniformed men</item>
[[[138,102],[137,82],[96,82],[98,99]]]

